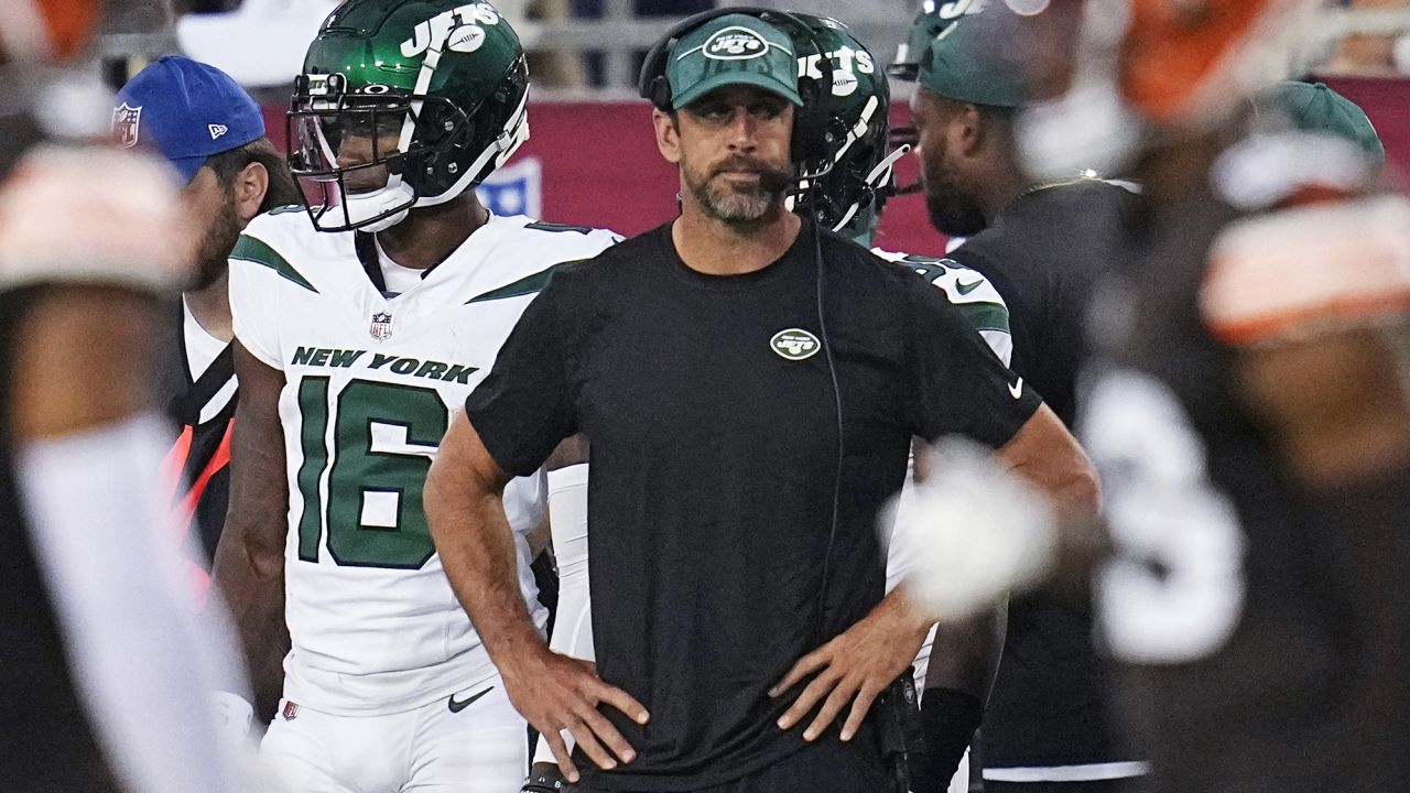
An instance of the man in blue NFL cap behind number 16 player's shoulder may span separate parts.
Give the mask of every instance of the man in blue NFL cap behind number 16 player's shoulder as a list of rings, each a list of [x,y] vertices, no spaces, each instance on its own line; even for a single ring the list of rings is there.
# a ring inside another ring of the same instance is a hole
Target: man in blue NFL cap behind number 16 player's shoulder
[[[114,102],[116,143],[155,152],[176,171],[182,207],[200,237],[195,282],[172,317],[176,354],[164,361],[162,398],[182,428],[164,463],[173,518],[199,540],[202,553],[188,569],[204,601],[226,523],[237,401],[228,257],[255,214],[299,203],[299,188],[265,137],[259,106],[214,66],[159,58]]]

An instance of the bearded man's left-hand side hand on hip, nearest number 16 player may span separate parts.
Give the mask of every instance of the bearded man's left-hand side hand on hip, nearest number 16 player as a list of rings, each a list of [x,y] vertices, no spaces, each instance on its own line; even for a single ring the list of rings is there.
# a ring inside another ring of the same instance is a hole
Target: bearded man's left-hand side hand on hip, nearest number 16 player
[[[618,758],[623,763],[636,758],[626,738],[598,713],[598,704],[609,704],[637,724],[646,724],[650,715],[632,694],[603,683],[592,662],[540,648],[527,660],[502,667],[501,674],[509,700],[543,734],[568,782],[578,782],[578,768],[563,739],[564,730],[605,770],[616,768]]]

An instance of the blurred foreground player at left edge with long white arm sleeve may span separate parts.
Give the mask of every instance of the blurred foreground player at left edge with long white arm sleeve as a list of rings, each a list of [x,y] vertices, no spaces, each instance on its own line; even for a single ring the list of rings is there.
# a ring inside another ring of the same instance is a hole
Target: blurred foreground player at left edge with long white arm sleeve
[[[100,4],[11,10],[7,85],[79,55]],[[0,350],[0,789],[237,790],[238,761],[206,703],[241,673],[219,610],[197,622],[186,608],[157,474],[166,430],[148,391],[157,296],[185,284],[193,246],[164,168],[41,145],[44,113],[7,109],[16,134],[0,168],[11,330]],[[100,133],[102,103],[93,117]]]

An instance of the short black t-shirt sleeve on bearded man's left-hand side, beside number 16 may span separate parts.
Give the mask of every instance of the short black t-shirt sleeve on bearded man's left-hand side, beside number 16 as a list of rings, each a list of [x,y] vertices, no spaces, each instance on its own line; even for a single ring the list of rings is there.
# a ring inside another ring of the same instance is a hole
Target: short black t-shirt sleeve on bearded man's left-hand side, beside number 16
[[[577,432],[558,323],[557,278],[525,309],[489,377],[465,399],[465,416],[501,468],[529,476]]]

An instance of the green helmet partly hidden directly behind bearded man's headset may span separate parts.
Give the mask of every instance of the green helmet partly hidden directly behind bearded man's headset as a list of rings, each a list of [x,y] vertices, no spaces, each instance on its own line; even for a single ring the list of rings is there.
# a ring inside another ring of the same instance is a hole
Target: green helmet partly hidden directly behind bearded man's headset
[[[871,52],[845,24],[794,11],[832,62],[832,90],[822,93],[826,123],[840,134],[821,168],[805,174],[794,209],[825,227],[870,244],[893,185],[893,167],[907,150],[888,151],[891,89]],[[814,51],[798,47],[799,52]],[[798,59],[799,75],[821,76],[818,55]]]

